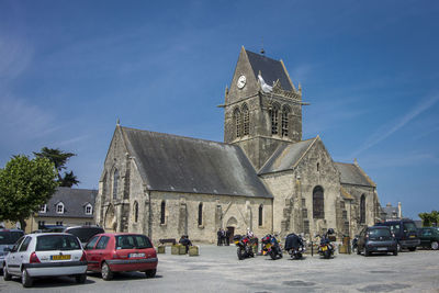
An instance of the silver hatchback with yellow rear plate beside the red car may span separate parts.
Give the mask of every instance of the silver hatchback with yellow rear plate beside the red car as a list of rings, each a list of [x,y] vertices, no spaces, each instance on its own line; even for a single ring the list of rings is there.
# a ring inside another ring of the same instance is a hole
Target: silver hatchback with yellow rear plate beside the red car
[[[87,280],[87,259],[78,237],[67,233],[23,236],[3,262],[3,279],[21,277],[23,286],[35,278],[70,275],[77,283]]]

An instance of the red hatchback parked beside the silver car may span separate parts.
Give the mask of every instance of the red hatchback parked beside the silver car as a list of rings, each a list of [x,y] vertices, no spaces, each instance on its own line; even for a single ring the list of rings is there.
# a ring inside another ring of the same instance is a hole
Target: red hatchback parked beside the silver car
[[[108,281],[113,272],[143,271],[154,278],[157,253],[149,238],[133,233],[104,233],[90,239],[85,247],[88,270],[102,273]]]

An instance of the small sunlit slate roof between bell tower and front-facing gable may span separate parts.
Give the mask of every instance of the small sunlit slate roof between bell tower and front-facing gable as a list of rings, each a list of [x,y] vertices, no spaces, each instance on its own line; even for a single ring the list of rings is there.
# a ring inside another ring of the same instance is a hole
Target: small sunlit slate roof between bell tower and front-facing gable
[[[259,170],[259,174],[292,170],[317,137],[295,144],[281,145]]]

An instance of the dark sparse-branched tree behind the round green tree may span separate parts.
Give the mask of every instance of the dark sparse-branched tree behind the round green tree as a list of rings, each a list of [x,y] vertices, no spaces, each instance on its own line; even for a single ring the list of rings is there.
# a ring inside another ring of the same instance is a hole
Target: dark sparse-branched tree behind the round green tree
[[[76,156],[76,154],[64,153],[59,148],[43,147],[41,153],[34,151],[34,155],[37,158],[47,158],[55,165],[55,168],[58,171],[58,182],[60,187],[71,188],[72,185],[77,185],[78,183],[80,183],[80,181],[78,181],[78,178],[74,174],[74,171],[64,172],[64,176],[61,176],[61,171],[67,169],[67,161],[71,157]]]

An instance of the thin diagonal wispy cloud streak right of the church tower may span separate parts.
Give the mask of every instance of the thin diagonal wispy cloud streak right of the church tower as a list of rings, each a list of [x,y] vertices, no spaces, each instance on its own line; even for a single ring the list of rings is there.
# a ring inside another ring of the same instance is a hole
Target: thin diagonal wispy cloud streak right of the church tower
[[[416,119],[419,114],[421,114],[424,111],[428,110],[432,105],[435,105],[439,101],[439,93],[432,94],[426,99],[424,99],[418,105],[416,105],[412,111],[406,113],[404,116],[398,119],[396,122],[391,122],[386,125],[383,125],[381,129],[376,131],[374,134],[372,134],[365,143],[359,147],[351,157],[357,157],[359,154],[363,153],[364,150],[378,145],[379,143],[383,142],[389,136],[404,127],[406,124],[412,122],[414,119]]]

